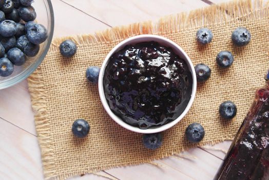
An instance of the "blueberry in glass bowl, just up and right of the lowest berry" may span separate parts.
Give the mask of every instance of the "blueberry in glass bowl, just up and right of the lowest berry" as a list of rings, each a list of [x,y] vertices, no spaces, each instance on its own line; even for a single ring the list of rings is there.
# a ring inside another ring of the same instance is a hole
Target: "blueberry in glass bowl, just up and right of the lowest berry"
[[[21,66],[25,63],[25,56],[21,49],[14,47],[7,53],[8,59],[15,65]]]

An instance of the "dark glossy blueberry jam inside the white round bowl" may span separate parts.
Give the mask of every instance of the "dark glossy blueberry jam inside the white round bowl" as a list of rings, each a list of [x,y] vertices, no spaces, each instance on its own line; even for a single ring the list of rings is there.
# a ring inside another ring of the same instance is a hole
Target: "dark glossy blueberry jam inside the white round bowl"
[[[186,62],[153,41],[127,45],[114,53],[103,80],[110,109],[140,129],[179,117],[193,87]]]

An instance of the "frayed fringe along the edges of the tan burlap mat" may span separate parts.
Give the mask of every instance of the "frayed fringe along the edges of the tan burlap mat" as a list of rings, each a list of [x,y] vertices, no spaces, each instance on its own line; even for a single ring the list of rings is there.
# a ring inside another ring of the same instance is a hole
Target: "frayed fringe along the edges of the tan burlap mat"
[[[188,13],[179,13],[176,15],[165,16],[159,20],[156,24],[151,21],[143,23],[135,23],[128,26],[113,27],[103,32],[97,32],[95,34],[77,35],[75,37],[63,37],[53,40],[49,51],[58,51],[59,45],[66,39],[73,40],[76,44],[101,44],[111,43],[113,41],[124,40],[139,34],[165,34],[169,32],[180,32],[184,29],[197,29],[199,27],[207,25],[218,25],[220,23],[232,24],[235,22],[253,21],[268,18],[269,16],[269,2],[257,0],[252,2],[247,1],[234,1],[229,3],[223,3],[220,5],[212,5],[203,9],[190,11]],[[41,147],[41,155],[44,167],[44,176],[46,179],[66,179],[71,176],[94,173],[102,169],[94,169],[94,171],[77,172],[69,174],[56,174],[55,158],[53,157],[53,141],[50,137],[49,121],[47,120],[47,107],[46,104],[46,92],[44,88],[44,82],[42,77],[42,69],[37,70],[28,78],[29,92],[32,99],[32,108],[35,114],[35,126],[37,130],[37,136]],[[34,99],[34,101],[33,101]],[[202,141],[201,143],[194,144],[193,147],[204,146],[207,144],[215,145],[216,143],[224,140],[232,140],[233,137],[223,138],[214,141]],[[190,147],[191,148],[191,147]],[[164,153],[161,158],[176,155],[184,151],[185,149],[173,150],[174,153]],[[156,160],[156,159],[151,159]],[[145,161],[143,163],[150,163]],[[123,166],[136,165],[126,163]],[[107,167],[114,168],[114,166]]]

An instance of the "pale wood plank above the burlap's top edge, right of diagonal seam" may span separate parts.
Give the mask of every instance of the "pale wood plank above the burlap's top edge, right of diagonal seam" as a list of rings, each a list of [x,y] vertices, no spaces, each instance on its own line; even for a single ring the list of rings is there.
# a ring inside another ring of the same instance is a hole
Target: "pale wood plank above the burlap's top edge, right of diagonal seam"
[[[202,1],[188,0],[61,0],[87,14],[111,25],[119,26],[147,20],[158,20],[161,16],[185,12],[208,6]]]

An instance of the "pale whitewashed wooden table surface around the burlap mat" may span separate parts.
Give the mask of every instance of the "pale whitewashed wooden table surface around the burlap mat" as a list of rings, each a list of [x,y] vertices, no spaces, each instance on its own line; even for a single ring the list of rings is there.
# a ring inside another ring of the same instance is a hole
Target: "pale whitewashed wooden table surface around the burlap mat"
[[[190,11],[227,0],[51,1],[55,16],[55,38],[93,33],[144,20],[158,20],[163,15]],[[0,99],[0,179],[44,179],[27,81],[1,90]],[[210,150],[212,146],[208,145],[181,153],[180,156],[184,157],[155,161],[161,167],[143,164],[113,168],[98,174],[111,179],[212,179],[224,159],[223,151],[227,151],[229,145],[230,141],[224,141],[213,146],[215,150]],[[87,174],[71,179],[106,178]]]

